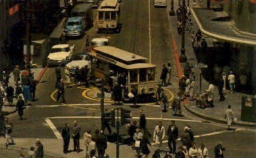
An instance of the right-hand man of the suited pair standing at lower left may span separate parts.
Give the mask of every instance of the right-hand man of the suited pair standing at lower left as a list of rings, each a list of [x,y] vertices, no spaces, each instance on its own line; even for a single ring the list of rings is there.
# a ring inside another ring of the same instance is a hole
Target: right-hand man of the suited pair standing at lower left
[[[81,127],[80,125],[77,124],[77,121],[74,121],[74,126],[72,127],[72,138],[74,142],[74,150],[80,152],[80,145],[79,145],[79,139],[80,139],[80,132],[81,132]]]

